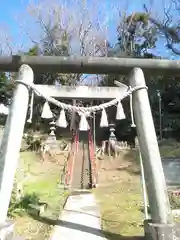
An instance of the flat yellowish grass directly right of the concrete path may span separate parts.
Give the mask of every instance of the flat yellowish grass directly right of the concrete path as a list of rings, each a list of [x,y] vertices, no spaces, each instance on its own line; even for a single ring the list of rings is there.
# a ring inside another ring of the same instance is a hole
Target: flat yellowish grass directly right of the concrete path
[[[142,197],[137,177],[96,189],[95,194],[101,207],[102,229],[108,239],[143,234]]]

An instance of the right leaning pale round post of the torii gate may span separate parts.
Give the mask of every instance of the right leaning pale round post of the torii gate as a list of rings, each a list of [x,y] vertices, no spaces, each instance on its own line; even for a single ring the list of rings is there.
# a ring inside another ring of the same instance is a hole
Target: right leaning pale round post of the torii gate
[[[144,74],[140,68],[132,70],[129,84],[132,88],[145,86]],[[144,88],[133,92],[132,97],[152,222],[172,223],[172,212],[147,90]]]

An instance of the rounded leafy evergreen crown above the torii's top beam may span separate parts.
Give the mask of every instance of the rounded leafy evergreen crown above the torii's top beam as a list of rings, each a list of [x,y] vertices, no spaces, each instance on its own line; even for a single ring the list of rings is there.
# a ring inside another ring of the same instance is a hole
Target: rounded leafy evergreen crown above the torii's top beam
[[[117,31],[117,44],[121,57],[123,55],[125,57],[145,57],[150,55],[148,50],[155,47],[156,29],[149,24],[146,13],[135,12],[129,16],[124,14]]]

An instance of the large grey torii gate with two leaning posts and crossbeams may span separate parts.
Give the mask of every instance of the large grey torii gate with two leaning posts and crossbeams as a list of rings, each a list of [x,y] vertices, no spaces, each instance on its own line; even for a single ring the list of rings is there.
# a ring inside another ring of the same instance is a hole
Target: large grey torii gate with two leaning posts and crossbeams
[[[1,71],[18,71],[18,80],[27,84],[33,82],[34,72],[66,72],[66,73],[121,73],[129,75],[129,85],[145,86],[143,71],[146,73],[180,74],[180,63],[167,60],[119,59],[119,58],[66,58],[66,57],[0,57]],[[48,95],[59,98],[116,98],[125,91],[121,87],[55,87],[37,86]],[[83,90],[82,90],[83,88]],[[133,110],[137,135],[142,154],[146,187],[150,204],[151,220],[145,222],[145,232],[153,237],[155,232],[161,234],[156,239],[173,238],[173,220],[170,209],[165,177],[157,137],[155,133],[149,98],[146,88],[132,93]],[[19,158],[19,150],[28,109],[29,91],[20,83],[13,97],[13,103],[7,118],[0,146],[0,223],[7,226],[6,217],[11,191]],[[167,234],[168,233],[168,234]]]

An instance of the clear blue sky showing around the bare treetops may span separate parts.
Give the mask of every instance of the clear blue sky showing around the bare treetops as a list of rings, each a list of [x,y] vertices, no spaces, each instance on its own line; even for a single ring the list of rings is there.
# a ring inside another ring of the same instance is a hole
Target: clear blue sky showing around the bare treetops
[[[42,0],[43,1],[43,0]],[[61,0],[63,1],[63,0]],[[70,1],[70,0],[67,0]],[[117,23],[114,19],[114,16],[111,16],[111,6],[122,6],[122,9],[126,9],[129,13],[133,11],[141,11],[142,5],[144,1],[149,6],[152,0],[129,0],[129,3],[125,0],[97,0],[99,1],[100,5],[103,5],[107,12],[109,13],[110,20],[109,20],[109,28],[108,28],[108,38],[111,42],[116,41],[116,26]],[[89,0],[91,2],[91,0]],[[169,0],[165,1],[167,4]],[[24,13],[22,16],[22,21],[24,21],[24,17],[26,18],[26,8],[29,4],[29,0],[2,0],[1,1],[1,14],[0,14],[0,26],[3,26],[7,29],[7,31],[11,34],[13,42],[21,44],[23,42],[24,47],[27,47],[30,44],[30,41],[26,34],[22,34],[22,30],[20,29],[17,23],[17,15],[20,16],[21,13]],[[161,1],[156,1],[155,9],[163,9]],[[160,14],[160,12],[158,12]],[[20,19],[20,18],[19,18]],[[161,46],[160,46],[161,45]],[[163,55],[166,56],[167,53],[165,49],[162,47],[162,42],[159,43],[159,51],[163,51]]]

